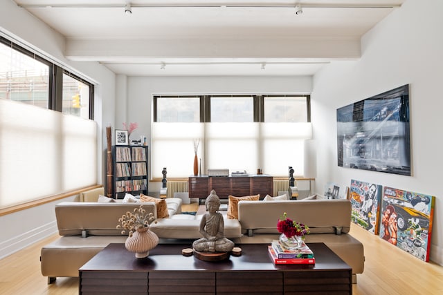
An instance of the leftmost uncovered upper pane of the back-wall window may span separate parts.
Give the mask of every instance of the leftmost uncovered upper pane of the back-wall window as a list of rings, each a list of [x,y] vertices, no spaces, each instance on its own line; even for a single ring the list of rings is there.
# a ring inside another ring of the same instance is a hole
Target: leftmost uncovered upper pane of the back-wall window
[[[157,97],[156,102],[157,122],[200,122],[200,97]]]

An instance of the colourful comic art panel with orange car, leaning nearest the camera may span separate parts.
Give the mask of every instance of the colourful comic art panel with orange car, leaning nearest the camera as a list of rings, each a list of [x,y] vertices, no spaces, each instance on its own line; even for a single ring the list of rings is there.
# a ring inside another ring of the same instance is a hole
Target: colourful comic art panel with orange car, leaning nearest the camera
[[[385,187],[380,237],[413,256],[429,261],[435,198]]]

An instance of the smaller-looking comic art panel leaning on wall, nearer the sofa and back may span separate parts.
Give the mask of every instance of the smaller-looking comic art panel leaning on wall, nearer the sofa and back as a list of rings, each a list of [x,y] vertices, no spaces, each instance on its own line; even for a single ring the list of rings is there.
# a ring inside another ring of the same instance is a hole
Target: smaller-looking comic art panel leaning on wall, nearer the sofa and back
[[[381,185],[351,180],[351,220],[372,234],[379,234]]]

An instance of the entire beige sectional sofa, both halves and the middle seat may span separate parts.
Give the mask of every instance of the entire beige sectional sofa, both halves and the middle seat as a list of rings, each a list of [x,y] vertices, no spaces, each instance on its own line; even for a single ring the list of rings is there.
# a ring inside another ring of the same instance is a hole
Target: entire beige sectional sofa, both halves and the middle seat
[[[80,200],[97,200],[98,191],[89,191]],[[181,199],[167,198],[170,218],[156,218],[151,230],[160,242],[191,242],[201,238],[201,215],[181,214]],[[123,213],[140,203],[62,202],[55,206],[60,238],[42,248],[43,276],[51,283],[57,276],[78,276],[78,269],[111,242],[125,242],[116,229]],[[143,203],[156,217],[154,202]],[[225,211],[226,212],[226,211]],[[240,201],[238,220],[225,218],[225,236],[237,245],[270,243],[280,235],[277,220],[284,212],[311,228],[307,242],[325,242],[350,267],[361,274],[364,266],[363,245],[348,234],[351,205],[348,200]]]

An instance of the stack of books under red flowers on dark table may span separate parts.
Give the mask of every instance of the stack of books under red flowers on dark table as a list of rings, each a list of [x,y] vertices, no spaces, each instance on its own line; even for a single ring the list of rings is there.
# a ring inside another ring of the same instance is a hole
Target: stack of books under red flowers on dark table
[[[316,258],[311,249],[303,242],[298,249],[287,249],[278,240],[273,240],[268,246],[269,257],[275,265],[314,265]]]

